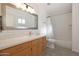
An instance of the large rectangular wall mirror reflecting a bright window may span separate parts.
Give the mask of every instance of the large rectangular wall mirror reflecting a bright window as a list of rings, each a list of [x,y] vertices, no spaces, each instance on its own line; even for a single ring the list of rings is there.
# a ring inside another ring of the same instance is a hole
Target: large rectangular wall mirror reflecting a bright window
[[[38,16],[6,6],[6,29],[37,29]]]

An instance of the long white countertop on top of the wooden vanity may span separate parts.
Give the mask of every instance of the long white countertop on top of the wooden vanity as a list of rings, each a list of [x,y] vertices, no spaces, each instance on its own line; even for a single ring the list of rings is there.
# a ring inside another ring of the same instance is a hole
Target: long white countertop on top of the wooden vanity
[[[0,39],[0,50],[6,49],[12,46],[16,46],[18,44],[22,44],[24,42],[28,42],[43,36],[45,35],[26,35],[26,36],[20,36],[16,38]]]

